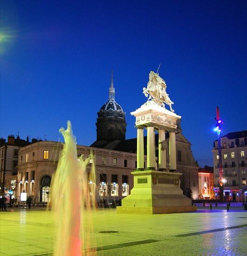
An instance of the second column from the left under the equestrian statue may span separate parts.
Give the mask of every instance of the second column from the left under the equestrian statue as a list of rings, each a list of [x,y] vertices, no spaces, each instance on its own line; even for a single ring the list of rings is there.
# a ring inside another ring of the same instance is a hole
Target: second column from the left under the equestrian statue
[[[154,128],[147,128],[147,169],[155,170]]]

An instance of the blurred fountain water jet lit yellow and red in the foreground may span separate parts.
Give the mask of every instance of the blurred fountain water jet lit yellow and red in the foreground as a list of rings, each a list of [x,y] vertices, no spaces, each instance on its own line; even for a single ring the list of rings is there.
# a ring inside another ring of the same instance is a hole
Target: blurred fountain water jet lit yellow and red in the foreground
[[[90,248],[86,234],[90,233],[92,222],[87,221],[88,226],[83,226],[83,216],[85,210],[88,212],[96,205],[95,193],[88,184],[88,178],[96,183],[95,161],[90,161],[93,163],[89,177],[86,171],[89,160],[93,159],[92,152],[88,158],[83,159],[83,155],[77,158],[70,121],[67,125],[67,130],[59,130],[65,143],[51,182],[50,206],[55,214],[56,227],[55,256],[79,256],[84,254],[83,248]]]

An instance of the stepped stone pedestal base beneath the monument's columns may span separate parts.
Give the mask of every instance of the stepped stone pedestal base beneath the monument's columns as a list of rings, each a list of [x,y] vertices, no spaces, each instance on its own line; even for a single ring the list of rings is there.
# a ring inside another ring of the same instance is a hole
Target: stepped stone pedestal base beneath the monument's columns
[[[134,171],[134,187],[117,206],[117,213],[185,213],[196,211],[180,189],[178,172]]]

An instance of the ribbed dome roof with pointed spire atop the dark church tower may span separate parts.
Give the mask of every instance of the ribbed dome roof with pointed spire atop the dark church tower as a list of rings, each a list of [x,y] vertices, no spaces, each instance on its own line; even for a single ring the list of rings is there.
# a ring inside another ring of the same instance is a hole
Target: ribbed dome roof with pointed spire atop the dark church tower
[[[125,114],[123,108],[115,100],[115,88],[113,86],[113,74],[111,74],[111,83],[109,88],[109,99],[108,101],[100,108],[99,112],[117,112]]]

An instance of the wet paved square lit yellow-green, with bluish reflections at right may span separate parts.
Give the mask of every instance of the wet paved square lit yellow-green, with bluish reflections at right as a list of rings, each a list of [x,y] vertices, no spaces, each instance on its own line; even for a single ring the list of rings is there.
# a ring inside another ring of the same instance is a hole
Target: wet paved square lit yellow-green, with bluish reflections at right
[[[247,255],[247,211],[198,210],[174,214],[85,213],[93,230],[88,255]],[[103,232],[103,233],[100,233]],[[52,255],[52,211],[0,212],[0,255]]]

